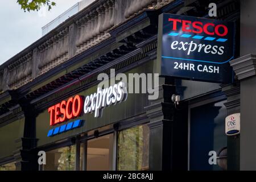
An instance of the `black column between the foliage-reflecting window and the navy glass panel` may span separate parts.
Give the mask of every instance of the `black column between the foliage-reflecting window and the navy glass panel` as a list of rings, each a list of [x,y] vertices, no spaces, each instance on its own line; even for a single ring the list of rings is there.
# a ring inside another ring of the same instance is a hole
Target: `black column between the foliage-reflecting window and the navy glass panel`
[[[175,93],[174,79],[161,78],[159,98],[145,107],[150,118],[150,170],[187,170],[187,110],[180,115],[171,101]]]

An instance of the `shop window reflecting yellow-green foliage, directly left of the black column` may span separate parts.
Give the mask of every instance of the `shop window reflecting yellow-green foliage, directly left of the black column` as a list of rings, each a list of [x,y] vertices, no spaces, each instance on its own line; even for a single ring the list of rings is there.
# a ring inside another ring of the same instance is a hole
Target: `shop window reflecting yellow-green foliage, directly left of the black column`
[[[147,125],[122,130],[118,134],[117,169],[147,170],[149,152],[149,128]]]

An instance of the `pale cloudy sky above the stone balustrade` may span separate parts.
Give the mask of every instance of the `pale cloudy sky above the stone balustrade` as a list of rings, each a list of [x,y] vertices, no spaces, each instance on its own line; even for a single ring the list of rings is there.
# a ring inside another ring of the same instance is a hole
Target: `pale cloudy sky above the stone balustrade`
[[[0,65],[42,37],[42,27],[81,0],[53,0],[56,6],[46,11],[24,12],[16,0],[1,0]]]

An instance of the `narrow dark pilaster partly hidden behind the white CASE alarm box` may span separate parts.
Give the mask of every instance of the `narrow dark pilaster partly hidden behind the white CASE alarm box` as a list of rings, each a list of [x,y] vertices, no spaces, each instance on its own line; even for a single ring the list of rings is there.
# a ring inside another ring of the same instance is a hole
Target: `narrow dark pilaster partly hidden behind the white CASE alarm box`
[[[221,85],[222,92],[227,97],[224,104],[227,115],[240,113],[240,82],[234,84]],[[240,169],[240,135],[227,136],[228,150],[228,171],[238,171]]]

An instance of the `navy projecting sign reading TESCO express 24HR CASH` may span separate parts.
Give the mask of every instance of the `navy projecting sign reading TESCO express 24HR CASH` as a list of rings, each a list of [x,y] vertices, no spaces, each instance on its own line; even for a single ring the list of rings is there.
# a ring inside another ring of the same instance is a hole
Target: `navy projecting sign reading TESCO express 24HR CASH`
[[[234,23],[174,14],[159,16],[161,75],[229,83],[234,58]]]

